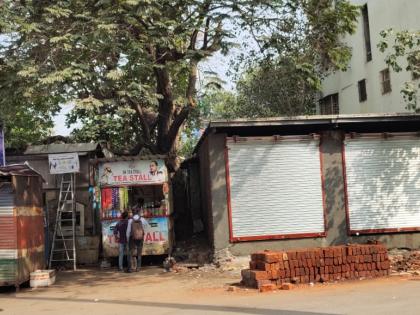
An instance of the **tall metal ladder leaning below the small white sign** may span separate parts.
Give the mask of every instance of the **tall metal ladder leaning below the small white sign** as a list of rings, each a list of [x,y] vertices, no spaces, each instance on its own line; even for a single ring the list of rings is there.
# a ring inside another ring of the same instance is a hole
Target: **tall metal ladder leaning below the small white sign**
[[[69,222],[71,222],[71,225],[68,224]],[[49,268],[55,262],[72,262],[73,270],[76,270],[76,200],[74,174],[63,174],[61,176],[57,216],[48,263]]]

